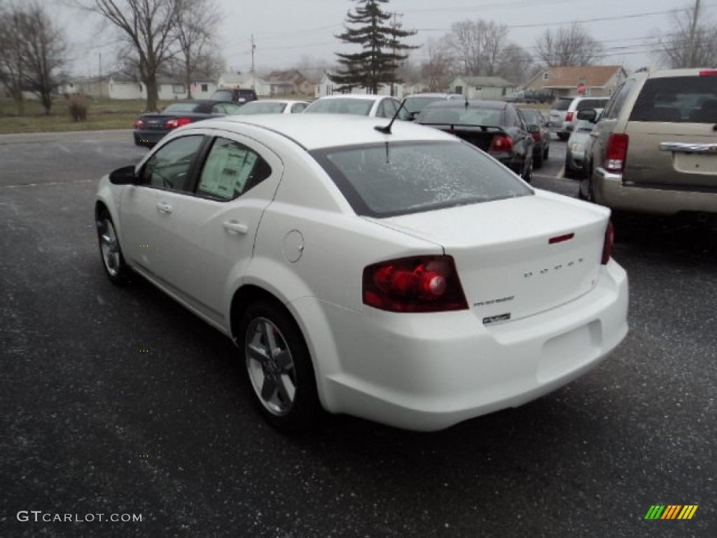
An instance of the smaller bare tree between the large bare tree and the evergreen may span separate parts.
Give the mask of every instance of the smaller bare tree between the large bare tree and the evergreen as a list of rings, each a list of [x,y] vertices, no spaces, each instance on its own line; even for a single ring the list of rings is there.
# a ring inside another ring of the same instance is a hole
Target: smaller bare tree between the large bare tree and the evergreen
[[[217,57],[221,57],[214,39],[221,14],[214,0],[174,0],[174,3],[177,43],[184,67],[182,78],[191,98],[194,73],[201,72],[206,77],[216,69]]]

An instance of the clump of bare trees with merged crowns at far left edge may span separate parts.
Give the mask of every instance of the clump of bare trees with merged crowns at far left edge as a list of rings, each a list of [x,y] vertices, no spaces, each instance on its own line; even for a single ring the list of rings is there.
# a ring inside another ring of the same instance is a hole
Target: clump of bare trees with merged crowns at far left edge
[[[49,114],[66,61],[65,35],[39,4],[10,4],[0,12],[0,79],[21,115],[23,90],[37,94]]]

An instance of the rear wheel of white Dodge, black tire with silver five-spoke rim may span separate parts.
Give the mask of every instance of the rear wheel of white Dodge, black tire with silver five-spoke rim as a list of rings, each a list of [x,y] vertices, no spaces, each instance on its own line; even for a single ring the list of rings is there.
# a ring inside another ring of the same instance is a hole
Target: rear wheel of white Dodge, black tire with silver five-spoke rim
[[[275,428],[300,432],[323,417],[311,357],[301,331],[282,306],[252,303],[237,339],[252,399]]]

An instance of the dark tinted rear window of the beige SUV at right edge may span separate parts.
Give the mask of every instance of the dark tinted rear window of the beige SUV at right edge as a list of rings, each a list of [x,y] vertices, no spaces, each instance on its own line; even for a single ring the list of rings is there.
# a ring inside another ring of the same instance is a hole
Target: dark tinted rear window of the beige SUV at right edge
[[[648,79],[630,121],[717,123],[717,77]]]

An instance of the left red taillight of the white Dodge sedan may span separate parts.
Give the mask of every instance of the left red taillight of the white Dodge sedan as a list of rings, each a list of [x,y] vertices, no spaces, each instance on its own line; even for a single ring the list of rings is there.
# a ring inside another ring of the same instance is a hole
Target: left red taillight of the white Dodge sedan
[[[463,288],[450,256],[415,256],[364,268],[364,304],[389,312],[465,310]]]

